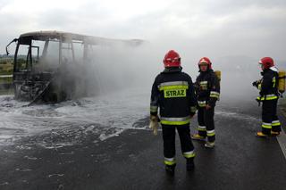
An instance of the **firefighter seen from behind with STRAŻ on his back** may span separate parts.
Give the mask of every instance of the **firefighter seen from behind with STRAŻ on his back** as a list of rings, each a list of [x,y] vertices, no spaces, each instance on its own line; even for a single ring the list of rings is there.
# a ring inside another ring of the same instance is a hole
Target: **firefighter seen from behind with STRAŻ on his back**
[[[190,138],[189,120],[196,113],[196,96],[188,74],[182,72],[181,58],[170,50],[164,56],[164,71],[156,76],[152,87],[151,122],[160,120],[164,141],[164,164],[173,175],[175,161],[175,130],[181,140],[181,153],[186,158],[187,170],[194,169],[194,146]],[[158,108],[160,119],[158,118]]]

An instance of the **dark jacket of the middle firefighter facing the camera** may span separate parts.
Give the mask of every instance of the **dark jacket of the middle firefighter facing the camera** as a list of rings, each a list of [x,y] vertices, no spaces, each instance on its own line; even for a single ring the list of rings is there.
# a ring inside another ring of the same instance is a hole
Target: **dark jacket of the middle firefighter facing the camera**
[[[214,70],[200,71],[195,83],[198,98],[198,107],[206,107],[206,104],[214,107],[220,97],[220,82],[214,74]]]

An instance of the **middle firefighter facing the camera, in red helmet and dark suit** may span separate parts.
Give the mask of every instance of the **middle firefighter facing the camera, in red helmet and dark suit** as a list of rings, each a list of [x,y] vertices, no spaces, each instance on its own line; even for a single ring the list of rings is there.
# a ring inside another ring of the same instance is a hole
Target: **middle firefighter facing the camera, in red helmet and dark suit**
[[[220,83],[212,69],[212,62],[203,57],[198,62],[199,75],[195,83],[198,98],[198,133],[194,140],[206,141],[206,148],[214,148],[214,106],[220,96]]]

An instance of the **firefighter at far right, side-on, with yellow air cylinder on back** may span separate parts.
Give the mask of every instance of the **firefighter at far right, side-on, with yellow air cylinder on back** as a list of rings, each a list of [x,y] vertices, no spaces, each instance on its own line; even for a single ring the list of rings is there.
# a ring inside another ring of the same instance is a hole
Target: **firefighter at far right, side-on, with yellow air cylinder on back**
[[[281,122],[277,117],[278,102],[278,70],[274,66],[271,57],[264,57],[259,61],[261,65],[262,79],[253,82],[253,86],[257,87],[260,92],[257,97],[258,103],[262,103],[262,125],[261,131],[257,132],[257,136],[278,136],[281,131]]]

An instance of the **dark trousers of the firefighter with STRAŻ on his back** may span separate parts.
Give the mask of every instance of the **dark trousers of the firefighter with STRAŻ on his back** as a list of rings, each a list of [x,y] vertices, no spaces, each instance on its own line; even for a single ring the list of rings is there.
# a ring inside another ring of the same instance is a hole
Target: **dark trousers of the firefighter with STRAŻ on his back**
[[[181,142],[181,153],[186,159],[195,157],[194,145],[191,142],[189,124],[186,125],[162,125],[164,142],[164,163],[174,165],[175,162],[175,136],[176,128]]]

